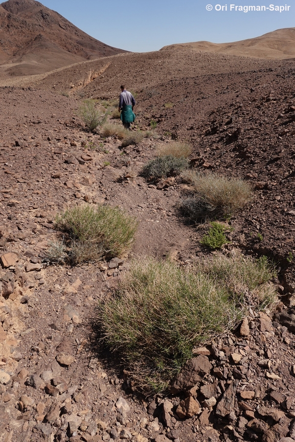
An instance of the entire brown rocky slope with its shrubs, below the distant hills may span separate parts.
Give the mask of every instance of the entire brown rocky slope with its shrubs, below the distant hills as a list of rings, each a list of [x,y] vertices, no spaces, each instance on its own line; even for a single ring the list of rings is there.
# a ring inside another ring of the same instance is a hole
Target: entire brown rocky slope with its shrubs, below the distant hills
[[[0,83],[0,441],[294,442],[294,60],[79,54]]]

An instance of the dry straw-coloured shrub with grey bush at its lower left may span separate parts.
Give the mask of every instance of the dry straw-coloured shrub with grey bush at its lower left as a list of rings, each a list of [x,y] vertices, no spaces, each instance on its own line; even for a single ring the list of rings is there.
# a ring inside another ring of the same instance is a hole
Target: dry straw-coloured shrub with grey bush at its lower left
[[[207,217],[229,217],[251,199],[251,186],[240,179],[230,179],[213,173],[187,171],[184,181],[193,185],[194,196],[183,201],[185,213],[193,220]]]

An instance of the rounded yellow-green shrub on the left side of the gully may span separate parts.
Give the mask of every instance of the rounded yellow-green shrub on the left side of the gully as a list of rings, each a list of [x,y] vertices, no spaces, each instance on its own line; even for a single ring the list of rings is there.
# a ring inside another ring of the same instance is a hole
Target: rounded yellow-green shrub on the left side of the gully
[[[131,247],[137,225],[118,207],[88,204],[68,209],[55,222],[67,235],[73,264],[121,255]]]

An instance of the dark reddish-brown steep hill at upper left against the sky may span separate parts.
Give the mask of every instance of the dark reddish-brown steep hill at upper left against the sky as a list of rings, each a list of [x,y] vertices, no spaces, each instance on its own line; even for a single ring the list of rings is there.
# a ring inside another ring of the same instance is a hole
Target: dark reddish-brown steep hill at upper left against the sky
[[[1,71],[30,75],[91,58],[125,52],[90,37],[34,0],[0,5]]]

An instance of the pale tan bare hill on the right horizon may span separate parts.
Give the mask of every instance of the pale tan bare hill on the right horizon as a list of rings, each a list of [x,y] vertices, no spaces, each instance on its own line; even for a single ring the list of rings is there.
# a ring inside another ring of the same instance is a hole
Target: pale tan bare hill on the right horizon
[[[217,52],[242,57],[293,58],[295,57],[295,28],[278,29],[260,37],[234,41],[232,43],[196,41],[164,46],[162,50],[175,46],[190,46],[196,51]]]

